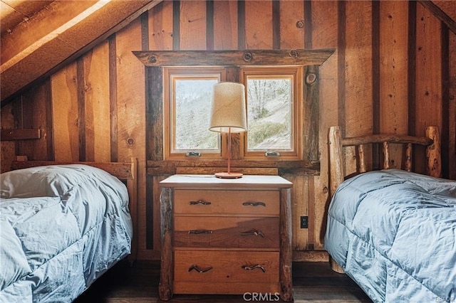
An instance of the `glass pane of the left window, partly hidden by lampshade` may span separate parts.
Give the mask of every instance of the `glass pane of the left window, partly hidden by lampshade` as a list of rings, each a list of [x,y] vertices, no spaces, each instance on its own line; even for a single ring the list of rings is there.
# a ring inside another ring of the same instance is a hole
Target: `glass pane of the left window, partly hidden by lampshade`
[[[209,131],[212,85],[218,77],[175,77],[174,151],[219,151],[219,136]]]

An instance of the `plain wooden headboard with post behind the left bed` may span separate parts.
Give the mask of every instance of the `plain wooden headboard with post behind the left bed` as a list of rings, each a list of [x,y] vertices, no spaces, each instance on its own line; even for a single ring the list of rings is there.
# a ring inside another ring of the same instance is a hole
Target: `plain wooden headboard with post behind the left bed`
[[[128,188],[130,215],[133,221],[133,239],[131,253],[128,260],[136,260],[138,253],[138,159],[131,158],[130,162],[84,162],[84,161],[28,161],[26,156],[18,156],[17,161],[12,161],[11,170],[26,169],[28,167],[62,164],[86,164],[103,169],[126,183]]]

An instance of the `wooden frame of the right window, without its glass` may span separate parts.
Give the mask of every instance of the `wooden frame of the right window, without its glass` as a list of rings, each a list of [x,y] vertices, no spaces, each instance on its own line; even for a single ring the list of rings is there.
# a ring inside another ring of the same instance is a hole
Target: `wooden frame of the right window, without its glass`
[[[247,132],[242,134],[242,157],[244,159],[252,160],[302,160],[302,122],[304,119],[304,112],[302,103],[304,102],[304,90],[303,90],[303,77],[304,68],[300,65],[274,65],[274,66],[242,66],[239,68],[239,77],[241,82],[246,87],[246,104],[248,105],[249,100],[247,98],[247,78],[250,76],[265,77],[277,76],[279,78],[292,78],[292,117],[291,122],[291,137],[292,137],[292,151],[284,151],[280,149],[276,150],[264,150],[264,151],[248,151],[247,150],[247,139],[249,136],[249,129]],[[249,118],[247,117],[247,122]],[[280,156],[266,156],[266,151],[278,151]]]

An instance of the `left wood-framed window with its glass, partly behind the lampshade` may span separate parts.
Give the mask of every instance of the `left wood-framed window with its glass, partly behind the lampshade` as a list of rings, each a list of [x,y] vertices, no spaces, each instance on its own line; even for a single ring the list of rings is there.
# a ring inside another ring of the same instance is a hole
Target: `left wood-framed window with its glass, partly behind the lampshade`
[[[209,131],[212,85],[222,68],[165,68],[165,157],[221,158],[219,134]]]

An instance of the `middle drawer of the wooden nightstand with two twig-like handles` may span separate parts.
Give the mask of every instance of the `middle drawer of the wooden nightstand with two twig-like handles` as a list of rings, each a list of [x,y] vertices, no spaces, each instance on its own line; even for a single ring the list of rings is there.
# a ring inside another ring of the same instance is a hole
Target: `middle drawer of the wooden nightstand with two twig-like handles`
[[[174,236],[176,247],[279,250],[279,217],[176,216]]]

